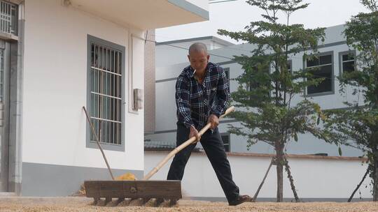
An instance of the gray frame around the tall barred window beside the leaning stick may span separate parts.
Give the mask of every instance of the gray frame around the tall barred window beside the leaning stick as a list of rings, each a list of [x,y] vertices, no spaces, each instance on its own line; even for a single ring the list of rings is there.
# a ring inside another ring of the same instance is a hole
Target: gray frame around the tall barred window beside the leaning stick
[[[121,52],[121,109],[120,109],[120,116],[121,116],[121,137],[120,142],[121,144],[109,144],[101,142],[102,149],[111,150],[111,151],[125,151],[125,58],[126,58],[126,48],[122,45],[118,45],[116,43],[111,43],[108,40],[103,40],[101,38],[97,38],[94,36],[87,35],[87,111],[91,111],[91,102],[90,102],[90,95],[91,95],[91,88],[90,88],[90,76],[91,76],[91,56],[92,56],[92,43],[96,45],[102,45],[104,47],[109,47],[113,50]],[[90,124],[88,121],[86,123],[86,148],[98,149],[97,142],[90,141],[90,133],[92,129],[90,128]]]

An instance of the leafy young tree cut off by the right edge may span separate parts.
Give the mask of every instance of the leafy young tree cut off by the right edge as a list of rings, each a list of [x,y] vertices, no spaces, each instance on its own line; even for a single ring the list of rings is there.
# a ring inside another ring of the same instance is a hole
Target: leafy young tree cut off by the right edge
[[[375,0],[361,0],[370,13],[359,13],[346,22],[346,43],[358,52],[357,66],[339,77],[341,91],[351,89],[363,95],[364,104],[346,102],[349,109],[327,112],[325,128],[336,141],[362,149],[367,156],[367,173],[372,179],[373,200],[378,200],[378,6]],[[365,179],[365,176],[363,177]],[[360,184],[359,184],[360,185]],[[353,192],[354,194],[354,192]],[[353,197],[352,194],[352,197]]]

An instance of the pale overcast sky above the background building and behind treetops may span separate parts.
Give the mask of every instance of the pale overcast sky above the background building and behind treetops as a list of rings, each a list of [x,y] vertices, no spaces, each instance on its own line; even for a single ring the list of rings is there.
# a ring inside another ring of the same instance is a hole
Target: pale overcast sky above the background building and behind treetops
[[[214,0],[209,2],[214,2]],[[304,24],[304,27],[311,29],[332,27],[344,24],[347,20],[350,20],[352,15],[367,12],[367,9],[359,0],[304,0],[303,2],[310,3],[310,5],[293,13],[290,24]],[[218,35],[218,29],[244,31],[244,27],[250,22],[262,20],[262,13],[265,12],[255,6],[250,6],[245,0],[209,3],[209,21],[156,29],[155,39],[158,42],[164,42],[216,36],[231,43],[243,43]]]

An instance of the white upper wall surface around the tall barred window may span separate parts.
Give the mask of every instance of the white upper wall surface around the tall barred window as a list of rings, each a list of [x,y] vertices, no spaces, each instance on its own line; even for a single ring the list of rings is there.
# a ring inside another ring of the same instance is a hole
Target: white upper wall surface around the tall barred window
[[[125,100],[130,102],[130,33],[60,0],[25,1],[22,161],[106,167],[98,149],[85,147],[87,34],[125,46]],[[144,87],[144,41],[134,39],[134,88]],[[144,169],[143,110],[125,108],[125,151],[105,151],[113,169]]]

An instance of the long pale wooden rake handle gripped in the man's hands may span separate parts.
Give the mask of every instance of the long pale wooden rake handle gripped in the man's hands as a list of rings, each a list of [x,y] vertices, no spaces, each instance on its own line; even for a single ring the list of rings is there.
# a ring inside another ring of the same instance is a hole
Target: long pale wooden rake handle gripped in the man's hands
[[[226,111],[225,111],[225,114],[223,114],[219,119],[223,118],[224,116],[230,114],[230,112],[233,112],[235,109],[234,106],[231,106],[229,107]],[[200,136],[204,135],[204,132],[206,132],[207,130],[209,130],[209,128],[211,127],[211,123],[207,123],[206,126],[204,126],[204,128],[202,128],[200,130],[200,132],[198,132],[198,134]],[[158,172],[163,165],[165,165],[169,159],[171,159],[174,155],[176,155],[176,153],[178,153],[179,151],[181,151],[182,149],[186,148],[186,146],[189,146],[190,144],[193,144],[196,142],[196,137],[193,136],[193,137],[190,137],[190,139],[188,139],[186,142],[183,142],[183,144],[181,144],[180,146],[177,146],[176,149],[172,150],[161,162],[158,163],[158,165],[153,168],[151,170],[151,172],[148,172],[148,174],[146,176],[144,176],[144,180],[148,180],[151,178],[151,176],[153,176],[156,172]]]

